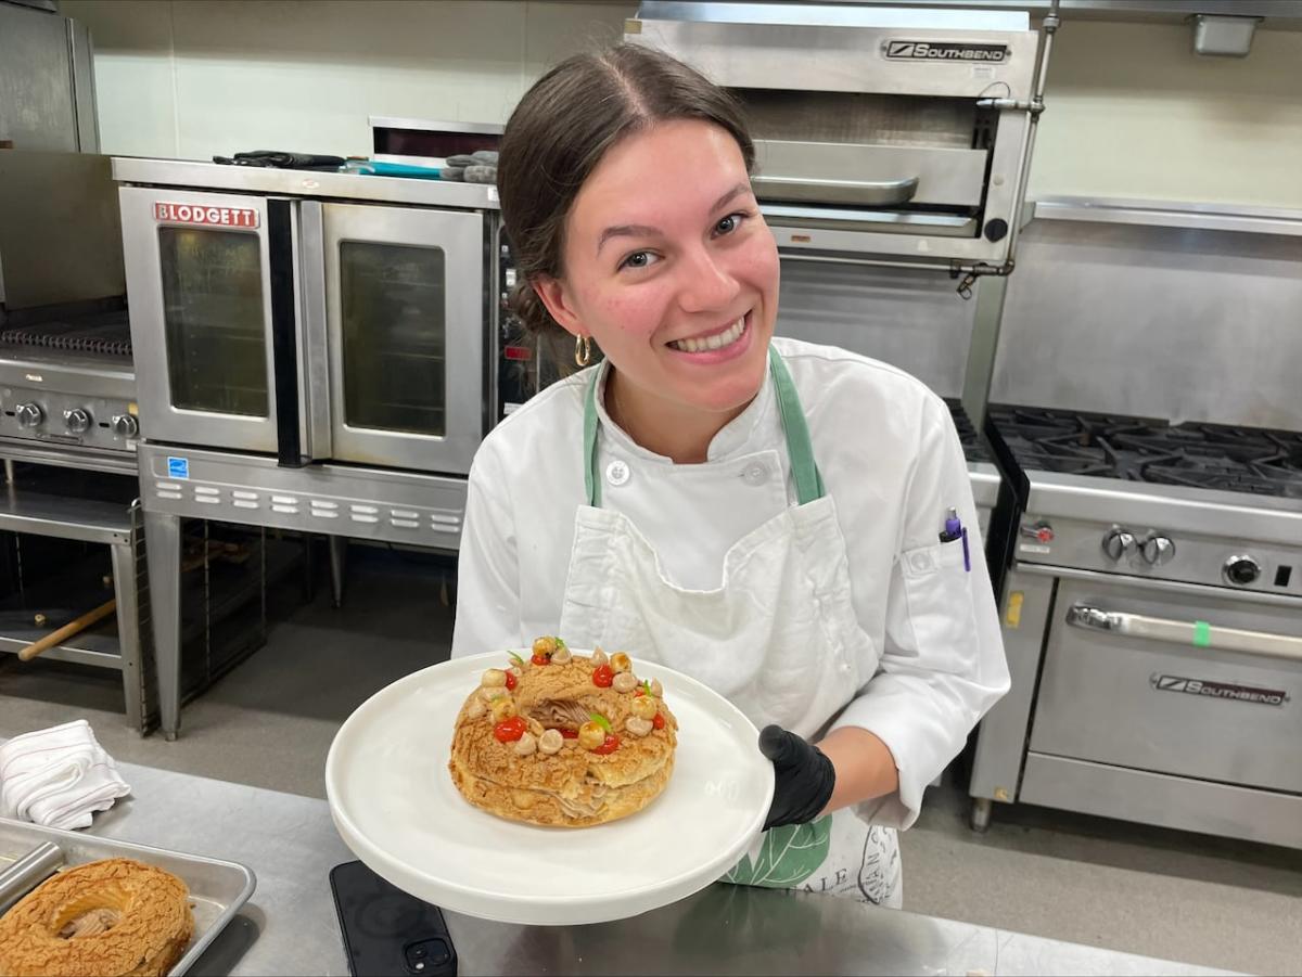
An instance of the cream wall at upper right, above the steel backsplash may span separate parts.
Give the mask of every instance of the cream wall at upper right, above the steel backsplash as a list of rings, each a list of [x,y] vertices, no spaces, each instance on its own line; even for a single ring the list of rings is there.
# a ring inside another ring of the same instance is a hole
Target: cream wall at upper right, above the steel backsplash
[[[1258,30],[1245,59],[1193,29],[1064,18],[1031,195],[1302,208],[1302,31]]]

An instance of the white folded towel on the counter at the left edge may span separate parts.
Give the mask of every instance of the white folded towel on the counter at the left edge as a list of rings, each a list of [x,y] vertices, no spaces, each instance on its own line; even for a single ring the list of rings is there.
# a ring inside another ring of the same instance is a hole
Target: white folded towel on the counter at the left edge
[[[0,817],[46,827],[89,827],[132,788],[85,719],[0,744]]]

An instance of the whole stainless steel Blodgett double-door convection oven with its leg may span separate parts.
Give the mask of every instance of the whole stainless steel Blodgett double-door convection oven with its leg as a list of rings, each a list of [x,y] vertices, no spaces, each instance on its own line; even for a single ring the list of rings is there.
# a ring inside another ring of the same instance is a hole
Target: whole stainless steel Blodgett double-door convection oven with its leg
[[[454,550],[501,402],[492,186],[116,159],[164,734],[182,518]],[[342,548],[332,546],[336,576]]]

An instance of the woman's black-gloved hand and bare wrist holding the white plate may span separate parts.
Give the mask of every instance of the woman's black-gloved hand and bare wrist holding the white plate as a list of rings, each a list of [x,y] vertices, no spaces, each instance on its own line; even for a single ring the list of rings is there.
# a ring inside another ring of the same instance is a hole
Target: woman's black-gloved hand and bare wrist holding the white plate
[[[900,790],[894,757],[867,730],[842,727],[815,747],[781,726],[766,726],[759,752],[773,761],[775,777],[766,831]]]

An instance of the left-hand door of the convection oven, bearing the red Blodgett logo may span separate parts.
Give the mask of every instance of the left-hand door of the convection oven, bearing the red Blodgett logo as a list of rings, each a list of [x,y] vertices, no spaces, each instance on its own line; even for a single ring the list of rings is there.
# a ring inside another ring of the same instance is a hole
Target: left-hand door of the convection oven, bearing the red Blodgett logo
[[[303,451],[302,403],[277,403],[276,350],[297,369],[297,204],[124,186],[122,246],[138,399],[150,438]],[[285,444],[280,423],[296,437]]]

